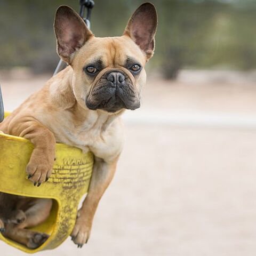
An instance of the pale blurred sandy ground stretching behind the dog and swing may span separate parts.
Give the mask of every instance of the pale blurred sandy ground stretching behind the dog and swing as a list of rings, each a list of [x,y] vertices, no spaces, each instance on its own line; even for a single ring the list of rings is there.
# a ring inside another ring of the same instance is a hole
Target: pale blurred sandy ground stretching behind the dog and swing
[[[141,111],[254,115],[253,79],[205,77],[185,72],[175,83],[151,77]],[[6,110],[46,78],[2,79]],[[67,239],[37,255],[255,255],[255,144],[252,129],[126,121],[125,148],[89,243],[76,249]],[[2,242],[0,250],[4,256],[25,255]]]

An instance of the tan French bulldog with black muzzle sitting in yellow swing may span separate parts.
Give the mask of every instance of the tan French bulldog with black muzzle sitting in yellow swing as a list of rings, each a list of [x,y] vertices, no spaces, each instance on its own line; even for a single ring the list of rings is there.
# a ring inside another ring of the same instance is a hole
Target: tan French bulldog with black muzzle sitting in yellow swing
[[[26,171],[37,186],[51,175],[55,142],[93,152],[89,192],[71,234],[78,247],[90,237],[94,213],[116,170],[123,148],[120,115],[125,109],[140,107],[141,87],[146,83],[144,66],[154,53],[156,27],[155,7],[145,3],[134,12],[123,36],[97,38],[74,10],[60,6],[54,22],[57,51],[69,66],[0,125],[4,133],[27,138],[34,144]],[[25,213],[25,219],[18,224],[0,220],[0,228],[5,226],[7,237],[35,248],[47,235],[25,228],[47,218],[51,200],[15,200],[15,210]],[[28,201],[30,206],[26,207]]]

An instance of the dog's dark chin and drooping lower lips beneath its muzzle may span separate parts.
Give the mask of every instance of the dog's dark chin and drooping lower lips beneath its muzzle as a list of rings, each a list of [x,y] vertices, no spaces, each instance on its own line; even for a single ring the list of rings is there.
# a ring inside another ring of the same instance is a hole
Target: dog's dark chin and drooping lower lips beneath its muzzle
[[[130,110],[135,110],[140,107],[140,102],[134,102],[130,104],[125,104],[121,98],[119,97],[111,97],[108,100],[104,100],[101,102],[95,102],[95,101],[89,101],[88,98],[85,101],[87,108],[91,110],[103,110],[108,113],[117,113],[121,110],[124,109],[130,109]]]

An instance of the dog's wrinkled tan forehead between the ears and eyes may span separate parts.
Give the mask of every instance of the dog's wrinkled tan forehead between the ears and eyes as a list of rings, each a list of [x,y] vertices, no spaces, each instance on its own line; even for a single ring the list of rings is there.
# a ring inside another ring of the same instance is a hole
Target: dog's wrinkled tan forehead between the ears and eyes
[[[98,69],[106,67],[129,67],[138,63],[144,66],[145,55],[141,52],[131,38],[120,37],[94,37],[90,39],[77,54],[73,68],[92,65]]]

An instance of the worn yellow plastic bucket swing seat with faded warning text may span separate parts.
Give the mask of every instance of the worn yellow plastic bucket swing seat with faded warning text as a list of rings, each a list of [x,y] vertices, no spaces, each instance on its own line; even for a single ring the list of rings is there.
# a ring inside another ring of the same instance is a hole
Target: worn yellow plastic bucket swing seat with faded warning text
[[[37,249],[28,249],[0,233],[0,239],[26,253],[54,249],[71,234],[79,201],[89,188],[93,167],[91,152],[84,154],[81,149],[57,143],[56,161],[50,179],[40,187],[34,187],[25,171],[33,148],[29,140],[0,133],[0,191],[53,199],[50,217],[41,225],[33,227],[33,230],[50,235]]]

